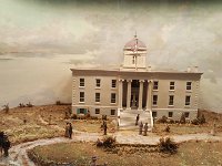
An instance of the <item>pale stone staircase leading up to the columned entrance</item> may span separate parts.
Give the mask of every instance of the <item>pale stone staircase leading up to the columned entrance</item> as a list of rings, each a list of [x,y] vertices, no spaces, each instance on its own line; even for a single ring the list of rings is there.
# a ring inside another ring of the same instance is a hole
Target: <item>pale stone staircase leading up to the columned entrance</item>
[[[137,115],[140,114],[139,124],[142,121],[143,125],[148,123],[152,128],[152,117],[150,111],[138,111],[138,110],[123,110],[120,111],[119,129],[139,129],[139,125],[135,126]]]

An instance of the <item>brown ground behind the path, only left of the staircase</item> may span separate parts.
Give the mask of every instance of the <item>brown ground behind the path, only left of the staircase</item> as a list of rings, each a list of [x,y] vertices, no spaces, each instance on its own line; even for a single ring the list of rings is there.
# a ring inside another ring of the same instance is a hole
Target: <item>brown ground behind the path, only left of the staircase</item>
[[[101,120],[64,120],[70,105],[42,105],[33,107],[14,107],[6,114],[0,111],[0,131],[3,131],[12,145],[64,135],[65,122],[71,122],[73,129],[80,132],[101,133]],[[108,121],[108,132],[113,133],[114,126]]]

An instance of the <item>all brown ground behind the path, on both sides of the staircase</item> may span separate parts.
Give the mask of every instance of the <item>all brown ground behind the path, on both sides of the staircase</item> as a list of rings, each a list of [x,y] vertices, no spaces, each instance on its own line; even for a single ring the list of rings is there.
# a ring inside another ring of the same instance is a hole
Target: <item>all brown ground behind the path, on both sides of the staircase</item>
[[[67,121],[64,120],[65,112],[69,112],[70,108],[70,105],[42,105],[10,108],[8,114],[0,111],[0,131],[9,135],[12,144],[38,138],[62,136]],[[206,123],[203,125],[170,124],[170,133],[164,133],[165,124],[155,124],[153,132],[157,135],[209,133],[212,129],[213,123],[216,124],[216,131],[222,132],[222,114],[208,111],[200,111],[200,113],[203,113],[206,118]],[[102,133],[101,120],[75,120],[70,122],[72,122],[73,129],[89,133]],[[114,132],[117,131],[113,123],[108,121],[108,133]],[[130,131],[127,133],[129,132]]]

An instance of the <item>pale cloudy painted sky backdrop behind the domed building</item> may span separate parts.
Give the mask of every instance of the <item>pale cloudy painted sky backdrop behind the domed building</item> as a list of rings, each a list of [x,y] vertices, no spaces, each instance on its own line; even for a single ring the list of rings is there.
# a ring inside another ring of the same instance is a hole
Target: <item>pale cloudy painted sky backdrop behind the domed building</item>
[[[71,102],[70,68],[120,65],[137,31],[148,65],[198,65],[200,107],[222,112],[220,1],[0,2],[0,105]]]

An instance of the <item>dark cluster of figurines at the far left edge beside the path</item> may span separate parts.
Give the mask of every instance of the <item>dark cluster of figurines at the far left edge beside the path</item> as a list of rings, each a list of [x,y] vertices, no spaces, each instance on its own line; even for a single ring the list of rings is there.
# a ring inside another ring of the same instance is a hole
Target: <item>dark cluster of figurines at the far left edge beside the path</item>
[[[4,157],[8,157],[10,147],[11,147],[11,143],[10,143],[8,136],[3,132],[0,132],[0,152],[1,152],[1,155],[2,155],[2,149],[3,149]]]

